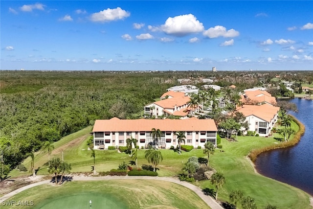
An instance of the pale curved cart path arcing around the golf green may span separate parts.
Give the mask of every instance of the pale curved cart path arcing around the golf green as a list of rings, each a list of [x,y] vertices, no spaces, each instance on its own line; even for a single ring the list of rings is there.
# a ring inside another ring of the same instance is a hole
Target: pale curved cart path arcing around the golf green
[[[194,186],[188,182],[181,182],[179,179],[175,179],[172,177],[154,177],[154,176],[104,176],[104,177],[87,177],[87,176],[73,176],[72,181],[93,181],[93,180],[118,180],[118,179],[144,179],[144,180],[159,180],[172,182],[175,184],[179,184],[181,186],[185,186],[191,190],[193,190],[211,209],[223,209],[212,197],[203,194],[201,188]],[[16,189],[2,197],[0,197],[0,203],[9,199],[10,197],[26,190],[34,186],[44,185],[51,183],[51,180],[45,180],[42,182],[33,183],[31,185],[23,186],[19,189]]]

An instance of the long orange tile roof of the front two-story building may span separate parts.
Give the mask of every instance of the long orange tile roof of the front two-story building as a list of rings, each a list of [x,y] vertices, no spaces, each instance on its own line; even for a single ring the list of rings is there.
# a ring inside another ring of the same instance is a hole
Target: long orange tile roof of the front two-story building
[[[102,131],[217,131],[213,119],[118,119],[96,120],[92,132]]]

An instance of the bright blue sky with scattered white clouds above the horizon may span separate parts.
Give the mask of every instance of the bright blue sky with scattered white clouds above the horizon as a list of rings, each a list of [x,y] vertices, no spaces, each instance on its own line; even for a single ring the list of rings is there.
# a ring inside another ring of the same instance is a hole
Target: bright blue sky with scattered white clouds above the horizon
[[[1,70],[313,70],[313,1],[1,0]]]

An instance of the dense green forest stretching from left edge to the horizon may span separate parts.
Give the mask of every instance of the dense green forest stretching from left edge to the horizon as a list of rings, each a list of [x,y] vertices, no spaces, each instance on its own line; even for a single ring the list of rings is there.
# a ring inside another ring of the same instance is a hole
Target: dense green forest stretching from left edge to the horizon
[[[281,72],[280,72],[281,73]],[[285,72],[286,73],[286,72]],[[200,87],[212,78],[221,87],[251,88],[277,72],[0,71],[0,156],[16,167],[45,141],[93,125],[95,119],[138,118],[143,106],[189,78]],[[311,75],[312,77],[312,72]],[[308,78],[308,77],[307,77]],[[3,172],[3,169],[2,169]]]

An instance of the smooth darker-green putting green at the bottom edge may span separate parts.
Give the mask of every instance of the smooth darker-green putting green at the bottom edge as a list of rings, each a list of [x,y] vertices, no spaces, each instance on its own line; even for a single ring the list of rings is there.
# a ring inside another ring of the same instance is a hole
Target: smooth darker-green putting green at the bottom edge
[[[91,200],[91,207],[89,201]],[[79,192],[45,199],[34,209],[127,209],[128,205],[110,194]]]

